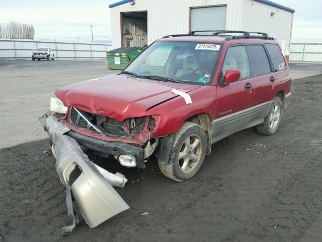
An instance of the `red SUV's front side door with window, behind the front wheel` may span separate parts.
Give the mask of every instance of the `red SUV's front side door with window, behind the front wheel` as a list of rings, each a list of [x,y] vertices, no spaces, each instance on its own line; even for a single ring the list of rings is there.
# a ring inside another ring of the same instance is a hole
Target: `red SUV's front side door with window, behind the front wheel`
[[[238,69],[240,78],[225,85],[223,79],[228,69]],[[227,48],[220,79],[216,88],[217,103],[213,123],[213,142],[244,129],[251,120],[251,107],[255,93],[246,46],[233,45]]]

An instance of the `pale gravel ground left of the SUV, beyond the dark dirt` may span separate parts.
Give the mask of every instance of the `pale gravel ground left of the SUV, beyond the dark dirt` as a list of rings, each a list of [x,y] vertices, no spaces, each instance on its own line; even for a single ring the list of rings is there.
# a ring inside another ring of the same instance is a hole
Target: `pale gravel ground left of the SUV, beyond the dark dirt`
[[[37,119],[58,87],[119,72],[106,61],[0,60],[0,149],[47,138]]]

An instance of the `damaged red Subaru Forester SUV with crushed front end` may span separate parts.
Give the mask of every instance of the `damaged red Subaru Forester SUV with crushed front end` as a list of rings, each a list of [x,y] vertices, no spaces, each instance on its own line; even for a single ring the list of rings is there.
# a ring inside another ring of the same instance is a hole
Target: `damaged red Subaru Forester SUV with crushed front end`
[[[118,75],[57,89],[41,122],[65,185],[76,166],[60,174],[68,165],[60,161],[78,146],[139,168],[153,154],[167,177],[184,181],[224,137],[250,127],[274,134],[290,87],[288,65],[274,38],[193,31],[156,40]]]

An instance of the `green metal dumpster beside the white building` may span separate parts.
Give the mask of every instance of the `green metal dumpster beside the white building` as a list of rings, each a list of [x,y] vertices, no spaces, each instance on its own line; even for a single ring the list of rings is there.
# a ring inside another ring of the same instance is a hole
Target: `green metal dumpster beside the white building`
[[[107,51],[108,69],[123,70],[141,51],[141,47],[121,47]]]

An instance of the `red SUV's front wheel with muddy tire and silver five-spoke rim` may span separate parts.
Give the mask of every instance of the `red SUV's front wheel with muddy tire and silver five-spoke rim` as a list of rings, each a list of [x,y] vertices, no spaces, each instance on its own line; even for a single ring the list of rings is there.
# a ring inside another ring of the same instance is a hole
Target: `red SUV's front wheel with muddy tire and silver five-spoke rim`
[[[198,141],[199,140],[199,144]],[[190,144],[187,149],[188,144]],[[195,148],[193,148],[195,146]],[[199,171],[207,150],[207,135],[197,124],[186,122],[175,136],[167,164],[158,162],[161,172],[176,181],[192,178]],[[179,155],[184,156],[179,160]],[[194,158],[191,158],[194,157]]]

